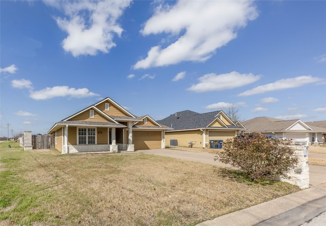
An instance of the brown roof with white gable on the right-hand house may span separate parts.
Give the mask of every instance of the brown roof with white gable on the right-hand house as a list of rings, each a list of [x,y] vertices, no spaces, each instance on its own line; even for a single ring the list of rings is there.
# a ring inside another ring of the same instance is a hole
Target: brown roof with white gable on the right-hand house
[[[248,130],[252,132],[282,132],[295,130],[312,130],[301,120],[281,120],[269,117],[257,117],[241,122]],[[299,129],[295,129],[297,126]],[[302,129],[300,129],[302,128]]]

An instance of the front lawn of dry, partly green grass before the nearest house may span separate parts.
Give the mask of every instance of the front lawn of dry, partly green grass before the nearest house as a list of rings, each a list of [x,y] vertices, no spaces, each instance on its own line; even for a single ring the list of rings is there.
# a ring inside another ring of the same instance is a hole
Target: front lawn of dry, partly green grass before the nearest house
[[[146,155],[61,155],[1,144],[0,224],[194,225],[299,190]]]

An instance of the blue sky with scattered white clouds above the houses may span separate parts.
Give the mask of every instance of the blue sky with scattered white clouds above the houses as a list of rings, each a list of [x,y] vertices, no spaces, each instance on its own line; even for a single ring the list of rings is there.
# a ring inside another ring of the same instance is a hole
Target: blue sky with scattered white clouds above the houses
[[[326,120],[325,1],[1,1],[1,136],[110,97],[137,116]]]

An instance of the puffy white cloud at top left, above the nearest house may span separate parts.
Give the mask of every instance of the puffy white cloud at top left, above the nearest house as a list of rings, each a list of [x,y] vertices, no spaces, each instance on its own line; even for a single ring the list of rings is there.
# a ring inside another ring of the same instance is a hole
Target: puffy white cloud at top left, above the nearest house
[[[51,1],[49,1],[51,2]],[[65,18],[58,17],[59,27],[68,33],[62,41],[65,51],[73,56],[107,53],[116,44],[114,35],[121,36],[123,29],[117,23],[130,1],[62,1],[47,4],[63,10]]]

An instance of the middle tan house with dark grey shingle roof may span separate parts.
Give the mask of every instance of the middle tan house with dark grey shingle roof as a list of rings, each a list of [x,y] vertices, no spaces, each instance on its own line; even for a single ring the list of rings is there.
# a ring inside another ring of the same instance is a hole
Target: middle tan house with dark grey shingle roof
[[[157,122],[174,129],[165,135],[167,145],[171,146],[176,142],[183,147],[209,148],[209,140],[226,140],[245,130],[235,125],[222,110],[204,114],[184,110]]]

